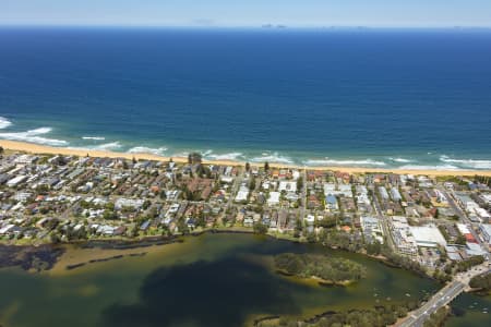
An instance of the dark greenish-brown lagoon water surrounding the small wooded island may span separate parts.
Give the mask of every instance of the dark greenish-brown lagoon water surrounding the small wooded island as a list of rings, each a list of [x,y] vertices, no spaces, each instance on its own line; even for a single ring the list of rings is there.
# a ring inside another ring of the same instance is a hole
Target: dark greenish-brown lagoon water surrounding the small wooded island
[[[267,315],[311,316],[396,303],[438,288],[360,255],[249,234],[203,234],[132,252],[146,255],[67,270],[68,264],[121,253],[71,247],[50,271],[0,270],[0,324],[243,326]],[[271,269],[272,256],[283,252],[348,257],[363,264],[368,277],[346,288],[295,282]]]

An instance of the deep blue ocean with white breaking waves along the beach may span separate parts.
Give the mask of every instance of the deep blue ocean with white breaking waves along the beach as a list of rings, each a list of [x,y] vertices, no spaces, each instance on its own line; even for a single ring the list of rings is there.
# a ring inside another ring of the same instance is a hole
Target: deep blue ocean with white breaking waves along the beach
[[[0,28],[0,138],[491,169],[491,31]]]

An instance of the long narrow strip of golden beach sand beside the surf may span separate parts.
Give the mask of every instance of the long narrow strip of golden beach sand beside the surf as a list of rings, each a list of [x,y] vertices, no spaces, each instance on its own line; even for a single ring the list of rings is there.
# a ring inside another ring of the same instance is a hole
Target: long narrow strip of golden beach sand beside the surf
[[[46,154],[46,155],[65,155],[65,156],[79,156],[79,157],[99,157],[99,158],[124,158],[131,160],[135,158],[136,160],[153,160],[153,161],[169,161],[171,158],[175,162],[187,164],[188,158],[185,157],[164,157],[153,154],[145,153],[118,153],[110,150],[98,150],[98,149],[75,149],[69,147],[53,147],[47,145],[39,145],[27,142],[0,140],[0,146],[5,150],[13,152],[24,152],[29,154]],[[246,162],[236,160],[203,160],[206,165],[220,165],[220,166],[243,166]],[[331,170],[331,171],[343,171],[348,173],[368,173],[368,172],[380,172],[380,173],[398,173],[398,174],[426,174],[432,177],[457,177],[457,175],[484,175],[491,177],[491,170],[436,170],[436,169],[398,169],[398,168],[370,168],[370,167],[349,167],[349,166],[300,166],[300,165],[288,165],[280,162],[268,162],[271,167],[275,168],[289,168],[289,169],[308,169],[308,170]],[[262,167],[264,162],[250,162],[252,167]]]

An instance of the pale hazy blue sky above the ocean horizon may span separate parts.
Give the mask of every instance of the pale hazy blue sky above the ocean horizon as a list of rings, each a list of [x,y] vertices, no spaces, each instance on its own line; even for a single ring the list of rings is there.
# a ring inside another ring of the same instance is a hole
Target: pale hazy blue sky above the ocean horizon
[[[0,0],[0,24],[491,26],[491,0]]]

